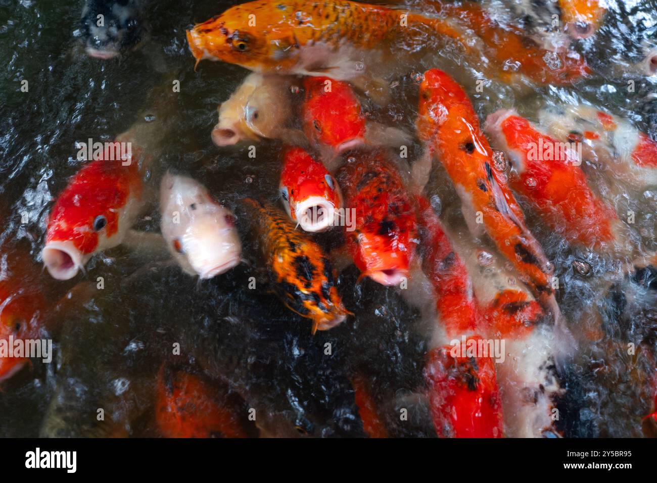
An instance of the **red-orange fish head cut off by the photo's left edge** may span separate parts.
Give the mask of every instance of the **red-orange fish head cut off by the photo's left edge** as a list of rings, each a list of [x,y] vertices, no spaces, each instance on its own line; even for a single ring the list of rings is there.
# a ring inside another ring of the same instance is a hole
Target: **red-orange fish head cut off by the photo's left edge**
[[[16,288],[11,280],[0,282],[0,340],[26,340],[39,336],[39,311],[43,300],[35,290]],[[10,339],[11,337],[11,339]],[[0,382],[16,374],[27,357],[0,357]]]

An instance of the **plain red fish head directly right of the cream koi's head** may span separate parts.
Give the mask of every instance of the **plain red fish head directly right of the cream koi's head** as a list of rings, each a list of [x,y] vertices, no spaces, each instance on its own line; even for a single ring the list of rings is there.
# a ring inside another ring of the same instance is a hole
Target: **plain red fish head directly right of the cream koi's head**
[[[327,77],[304,80],[304,131],[336,154],[365,143],[365,116],[348,83]]]

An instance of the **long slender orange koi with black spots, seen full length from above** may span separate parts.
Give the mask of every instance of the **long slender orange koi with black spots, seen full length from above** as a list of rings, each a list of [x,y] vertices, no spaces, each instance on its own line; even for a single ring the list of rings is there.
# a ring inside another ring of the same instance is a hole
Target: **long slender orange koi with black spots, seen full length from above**
[[[552,269],[524,223],[513,193],[495,169],[493,150],[482,134],[463,88],[438,69],[420,85],[417,131],[430,154],[438,156],[461,197],[468,227],[486,229],[498,250],[535,292],[549,298]],[[477,216],[482,224],[474,223]]]

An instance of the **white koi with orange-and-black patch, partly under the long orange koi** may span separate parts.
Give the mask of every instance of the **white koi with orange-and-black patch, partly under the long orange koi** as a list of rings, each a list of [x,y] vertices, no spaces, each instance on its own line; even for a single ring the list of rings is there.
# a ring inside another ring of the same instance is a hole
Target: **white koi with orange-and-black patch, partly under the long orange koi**
[[[554,409],[563,394],[556,377],[553,326],[530,291],[504,267],[501,257],[472,242],[468,235],[452,237],[472,277],[480,308],[480,324],[490,340],[499,340],[503,360],[495,371],[500,387],[505,436],[558,436]]]

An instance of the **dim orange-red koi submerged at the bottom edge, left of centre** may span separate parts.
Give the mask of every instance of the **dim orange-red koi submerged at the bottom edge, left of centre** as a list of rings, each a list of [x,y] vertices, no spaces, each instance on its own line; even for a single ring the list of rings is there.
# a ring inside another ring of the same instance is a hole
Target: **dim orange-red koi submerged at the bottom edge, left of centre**
[[[246,438],[236,411],[221,401],[214,384],[162,365],[155,417],[166,438]]]

